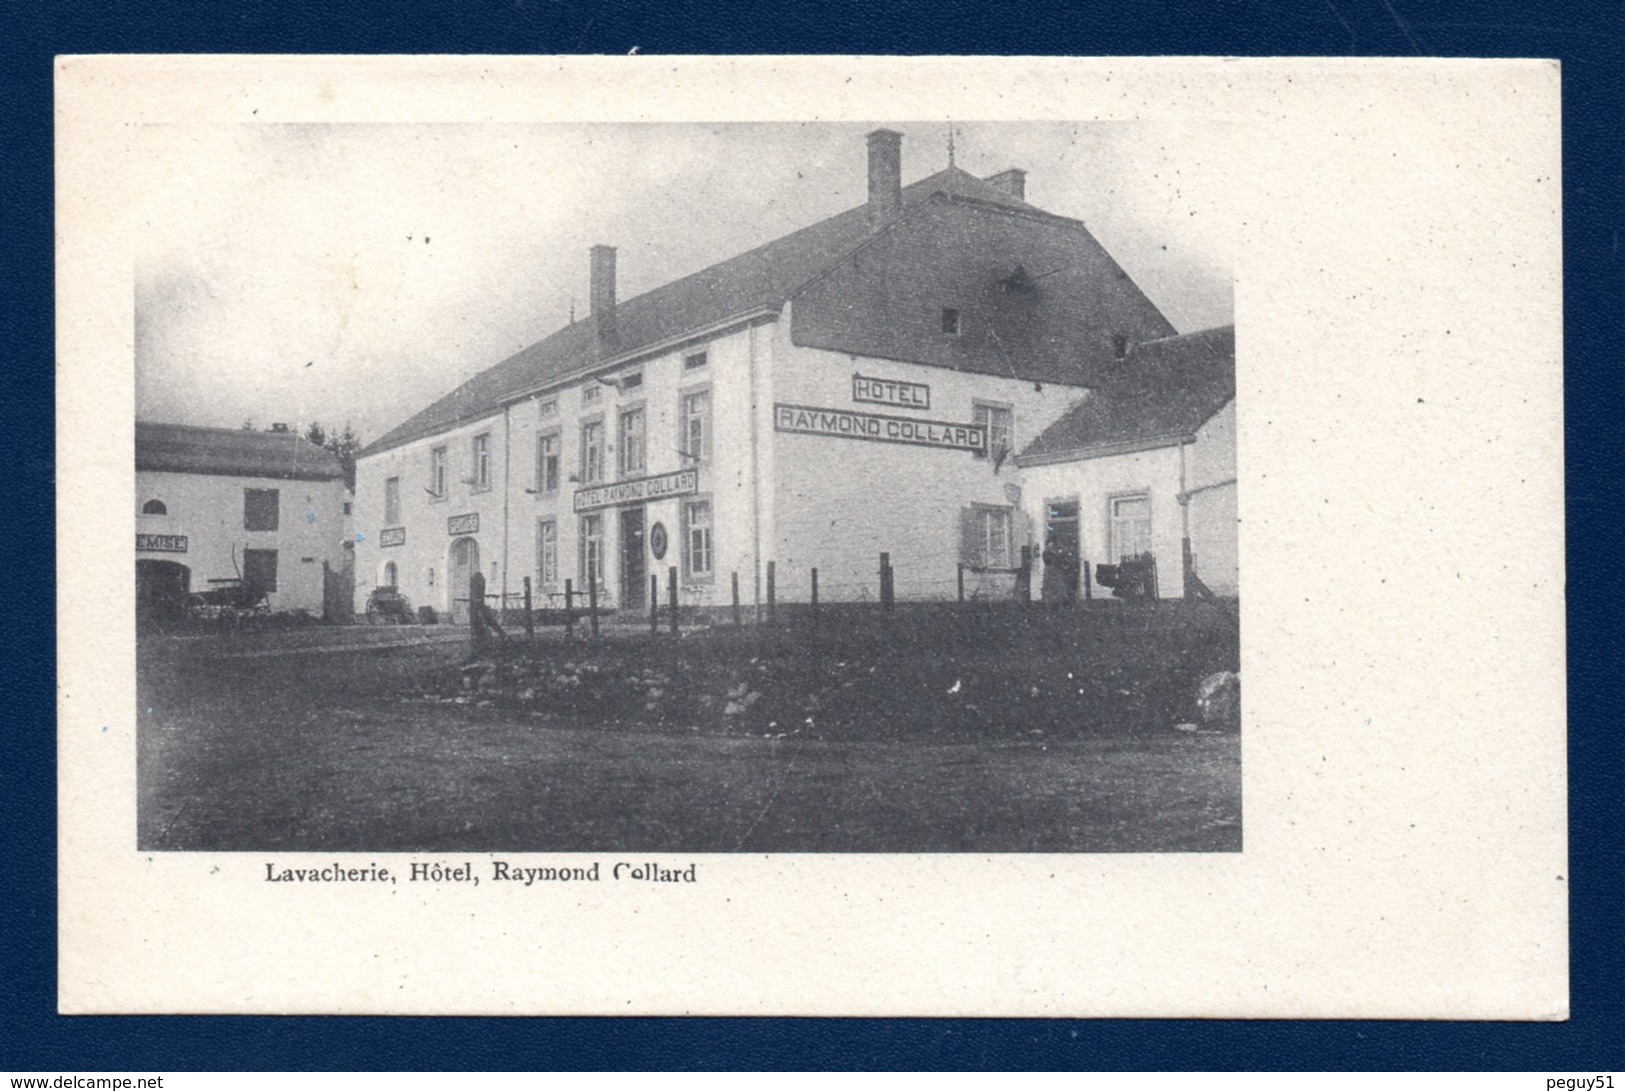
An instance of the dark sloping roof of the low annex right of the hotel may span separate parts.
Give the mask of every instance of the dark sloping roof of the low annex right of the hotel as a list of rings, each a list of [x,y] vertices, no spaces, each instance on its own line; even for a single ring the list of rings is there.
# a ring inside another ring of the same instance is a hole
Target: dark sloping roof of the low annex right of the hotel
[[[1146,341],[1022,450],[1035,465],[1173,444],[1235,398],[1235,327]]]

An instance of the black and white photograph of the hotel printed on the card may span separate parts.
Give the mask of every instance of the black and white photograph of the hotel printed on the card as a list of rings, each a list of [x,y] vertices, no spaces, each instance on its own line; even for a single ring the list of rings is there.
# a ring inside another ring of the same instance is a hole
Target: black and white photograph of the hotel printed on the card
[[[1238,852],[1232,145],[143,130],[141,850]]]

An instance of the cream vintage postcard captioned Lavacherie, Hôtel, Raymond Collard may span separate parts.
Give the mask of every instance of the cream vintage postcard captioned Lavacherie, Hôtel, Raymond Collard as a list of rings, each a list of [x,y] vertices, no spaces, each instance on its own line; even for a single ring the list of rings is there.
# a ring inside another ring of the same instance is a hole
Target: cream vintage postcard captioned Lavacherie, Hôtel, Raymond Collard
[[[62,1011],[1565,1018],[1557,111],[60,59]]]

